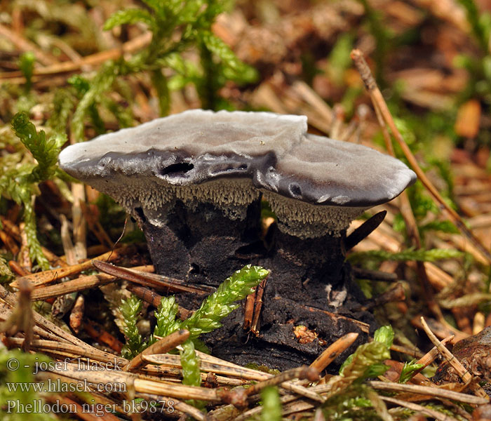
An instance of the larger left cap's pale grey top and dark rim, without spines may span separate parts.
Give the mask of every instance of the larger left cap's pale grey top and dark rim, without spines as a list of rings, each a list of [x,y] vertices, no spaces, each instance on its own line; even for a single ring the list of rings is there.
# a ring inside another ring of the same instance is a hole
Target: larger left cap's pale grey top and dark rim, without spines
[[[305,116],[191,109],[67,147],[60,166],[81,180],[122,173],[194,185],[245,177],[249,164],[283,156],[306,132]]]

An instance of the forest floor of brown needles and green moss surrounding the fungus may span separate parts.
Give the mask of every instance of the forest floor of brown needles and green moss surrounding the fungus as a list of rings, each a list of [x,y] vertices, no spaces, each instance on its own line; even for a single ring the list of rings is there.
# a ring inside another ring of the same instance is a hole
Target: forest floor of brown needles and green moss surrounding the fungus
[[[491,4],[229,3],[0,1],[1,419],[39,402],[40,420],[491,420]],[[347,260],[391,328],[343,375],[353,335],[283,373],[195,351],[183,330],[159,335],[189,313],[153,288],[166,280],[141,230],[55,163],[65,142],[194,108],[305,115],[310,133],[417,173],[349,229],[386,210]],[[65,387],[11,388],[48,381]]]

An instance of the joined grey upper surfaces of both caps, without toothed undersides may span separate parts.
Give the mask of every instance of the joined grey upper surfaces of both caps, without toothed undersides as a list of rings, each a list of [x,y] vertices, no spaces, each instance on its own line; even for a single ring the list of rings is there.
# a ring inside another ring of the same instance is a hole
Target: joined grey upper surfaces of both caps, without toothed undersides
[[[189,110],[69,146],[59,161],[99,189],[101,179],[122,176],[174,186],[248,178],[259,189],[330,206],[375,206],[416,180],[389,155],[309,135],[306,117],[269,112]]]

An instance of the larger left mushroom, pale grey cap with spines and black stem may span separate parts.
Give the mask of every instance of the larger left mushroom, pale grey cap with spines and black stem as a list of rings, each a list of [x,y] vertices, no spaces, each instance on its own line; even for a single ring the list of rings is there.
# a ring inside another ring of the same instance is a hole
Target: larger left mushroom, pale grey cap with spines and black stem
[[[140,222],[157,272],[218,285],[260,245],[253,179],[306,131],[304,116],[194,109],[72,145],[59,161]]]

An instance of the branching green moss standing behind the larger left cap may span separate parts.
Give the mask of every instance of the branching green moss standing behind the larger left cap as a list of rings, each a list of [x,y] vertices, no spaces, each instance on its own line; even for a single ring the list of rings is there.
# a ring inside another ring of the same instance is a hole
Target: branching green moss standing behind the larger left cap
[[[183,88],[194,83],[203,108],[216,109],[222,101],[217,92],[227,80],[250,83],[257,79],[255,69],[245,65],[220,38],[211,32],[216,16],[224,11],[225,1],[156,1],[146,0],[148,8],[129,8],[118,11],[105,22],[105,29],[142,23],[152,32],[152,41],[128,60],[105,62],[89,84],[73,80],[79,92],[84,90],[72,119],[72,131],[76,140],[84,139],[86,117],[100,128],[97,106],[114,107],[114,115],[121,109],[107,102],[106,93],[123,76],[149,72],[152,86],[158,94],[160,114],[168,114],[170,87]],[[201,67],[183,58],[182,53],[194,48],[199,51]],[[162,69],[172,69],[167,75]],[[210,91],[211,90],[211,91]],[[112,106],[111,106],[112,105]]]

